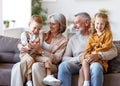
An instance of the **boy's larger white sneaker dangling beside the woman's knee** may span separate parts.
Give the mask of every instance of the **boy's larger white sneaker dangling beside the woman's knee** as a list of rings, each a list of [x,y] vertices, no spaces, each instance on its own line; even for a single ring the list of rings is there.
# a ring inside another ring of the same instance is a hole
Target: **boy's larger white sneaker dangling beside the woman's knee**
[[[43,83],[46,85],[59,86],[61,82],[60,80],[54,78],[53,75],[47,75],[43,79]]]

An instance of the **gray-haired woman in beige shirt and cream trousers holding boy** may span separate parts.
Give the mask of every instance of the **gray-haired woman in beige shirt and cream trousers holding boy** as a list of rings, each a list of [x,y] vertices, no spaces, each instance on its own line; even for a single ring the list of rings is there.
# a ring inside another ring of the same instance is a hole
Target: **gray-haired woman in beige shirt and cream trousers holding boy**
[[[45,63],[40,62],[39,58],[49,57],[52,65],[50,69],[55,67],[62,60],[67,39],[62,35],[66,29],[66,19],[61,13],[55,13],[50,16],[50,29],[41,33],[41,46],[39,44],[31,43],[31,47],[38,53],[36,62],[32,65],[32,81],[33,86],[51,85],[48,80],[57,80],[54,77],[46,77]],[[11,86],[24,86],[26,77],[26,62],[18,62],[13,66],[11,75]],[[17,78],[16,78],[17,77]],[[44,83],[43,83],[44,81]],[[55,82],[56,83],[56,82]],[[55,83],[52,83],[55,85]]]

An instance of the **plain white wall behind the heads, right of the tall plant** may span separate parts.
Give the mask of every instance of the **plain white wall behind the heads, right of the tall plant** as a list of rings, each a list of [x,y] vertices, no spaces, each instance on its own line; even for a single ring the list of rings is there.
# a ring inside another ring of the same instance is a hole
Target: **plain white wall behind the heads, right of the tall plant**
[[[98,9],[108,9],[114,40],[120,40],[119,2],[119,0],[56,0],[43,2],[43,7],[48,9],[48,14],[61,12],[70,20],[78,12],[88,12],[93,17]]]

